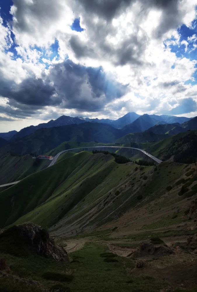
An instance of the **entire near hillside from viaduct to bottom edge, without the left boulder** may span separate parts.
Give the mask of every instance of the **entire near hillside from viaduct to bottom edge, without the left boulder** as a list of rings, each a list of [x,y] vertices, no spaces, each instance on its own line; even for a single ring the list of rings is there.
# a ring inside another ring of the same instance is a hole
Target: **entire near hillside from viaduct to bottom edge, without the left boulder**
[[[11,267],[11,276],[0,276],[3,291],[91,291],[93,283],[99,292],[105,282],[106,292],[177,292],[182,284],[195,292],[194,164],[117,164],[110,154],[90,152],[67,152],[58,161],[0,193],[0,228],[27,221],[47,227],[43,238],[49,230],[71,263],[24,256],[13,226],[1,236],[0,257]]]

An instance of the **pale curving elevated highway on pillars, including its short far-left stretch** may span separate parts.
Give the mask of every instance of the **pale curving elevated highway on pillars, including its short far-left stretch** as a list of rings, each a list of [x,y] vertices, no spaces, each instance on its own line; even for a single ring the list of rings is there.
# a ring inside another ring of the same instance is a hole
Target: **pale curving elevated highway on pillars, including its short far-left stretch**
[[[161,163],[162,161],[156,157],[154,157],[153,155],[147,153],[146,151],[140,149],[140,148],[133,148],[133,147],[117,147],[117,146],[93,146],[93,147],[80,147],[80,148],[72,148],[72,149],[67,149],[67,150],[63,150],[59,153],[57,153],[55,155],[55,157],[53,158],[53,160],[51,161],[51,163],[47,166],[47,167],[50,167],[52,165],[54,165],[57,161],[57,158],[64,152],[74,152],[75,150],[81,150],[81,151],[85,151],[85,150],[93,150],[93,149],[98,149],[98,150],[104,150],[104,148],[107,150],[107,148],[113,148],[114,150],[121,150],[121,149],[125,149],[125,150],[129,150],[131,151],[132,153],[134,152],[135,153],[139,153],[141,152],[142,156],[144,157],[148,157],[149,160],[154,160],[156,163]],[[79,152],[81,152],[79,151]],[[16,183],[19,183],[20,180],[18,181],[15,181],[15,182],[12,182],[12,183],[7,183],[7,184],[4,184],[4,185],[0,185],[0,187],[7,187],[9,185],[15,185]]]

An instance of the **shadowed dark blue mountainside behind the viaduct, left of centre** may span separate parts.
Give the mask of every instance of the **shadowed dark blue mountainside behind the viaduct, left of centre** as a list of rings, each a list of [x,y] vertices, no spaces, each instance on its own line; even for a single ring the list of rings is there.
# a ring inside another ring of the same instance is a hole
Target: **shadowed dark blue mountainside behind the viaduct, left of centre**
[[[53,128],[42,128],[35,133],[12,141],[0,150],[0,156],[7,152],[25,155],[45,154],[64,141],[113,143],[122,136],[121,130],[107,124],[84,123]]]

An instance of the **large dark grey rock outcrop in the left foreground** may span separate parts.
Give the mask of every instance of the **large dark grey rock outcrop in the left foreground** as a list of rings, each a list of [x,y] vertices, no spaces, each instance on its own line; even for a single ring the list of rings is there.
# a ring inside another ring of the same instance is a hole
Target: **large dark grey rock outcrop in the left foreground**
[[[21,246],[39,255],[51,257],[57,261],[69,261],[67,252],[61,246],[56,246],[48,231],[34,223],[23,223],[5,230],[0,235],[0,241],[9,240],[19,242]],[[16,240],[15,240],[16,239]],[[19,244],[18,244],[19,245]],[[17,246],[15,246],[17,248]],[[20,248],[20,246],[18,246]],[[9,251],[8,251],[9,252]]]

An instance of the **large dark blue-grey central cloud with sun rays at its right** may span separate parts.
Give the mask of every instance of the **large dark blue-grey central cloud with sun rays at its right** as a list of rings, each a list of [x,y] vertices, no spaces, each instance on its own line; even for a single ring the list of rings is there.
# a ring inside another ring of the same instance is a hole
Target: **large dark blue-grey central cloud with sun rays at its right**
[[[56,64],[49,78],[65,108],[98,111],[127,91],[127,86],[108,78],[101,67],[85,67],[69,60]]]

